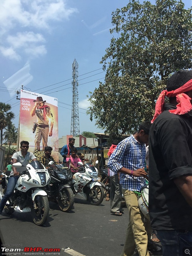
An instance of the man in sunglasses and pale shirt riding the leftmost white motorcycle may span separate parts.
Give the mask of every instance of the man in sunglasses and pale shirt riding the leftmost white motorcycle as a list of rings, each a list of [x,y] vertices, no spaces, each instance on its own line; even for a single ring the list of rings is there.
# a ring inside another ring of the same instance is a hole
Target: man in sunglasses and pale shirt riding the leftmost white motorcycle
[[[21,163],[22,165],[26,166],[30,160],[36,161],[36,157],[33,155],[33,153],[28,152],[28,148],[29,148],[29,142],[22,140],[20,142],[21,150],[19,152],[14,153],[12,156],[12,164]],[[24,166],[20,167],[18,171],[14,166],[12,166],[12,171],[9,176],[10,178],[7,183],[7,190],[0,203],[0,214],[2,213],[7,200],[10,198],[15,188],[17,180],[19,179],[19,173],[25,170],[27,170],[27,168]]]

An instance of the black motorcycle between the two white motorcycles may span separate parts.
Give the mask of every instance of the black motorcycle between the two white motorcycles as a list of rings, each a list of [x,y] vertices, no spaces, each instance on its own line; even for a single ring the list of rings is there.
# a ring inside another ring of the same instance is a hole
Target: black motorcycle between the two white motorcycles
[[[71,170],[67,164],[52,165],[49,170],[50,183],[45,187],[49,201],[57,202],[63,212],[69,212],[73,208],[74,195],[70,187],[72,180]]]

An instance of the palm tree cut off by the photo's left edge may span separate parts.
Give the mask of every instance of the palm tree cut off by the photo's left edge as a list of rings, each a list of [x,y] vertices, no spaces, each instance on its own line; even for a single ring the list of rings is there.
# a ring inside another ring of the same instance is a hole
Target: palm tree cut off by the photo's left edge
[[[3,129],[12,124],[11,120],[15,117],[15,114],[10,111],[11,105],[4,102],[0,102],[0,141],[1,146],[3,144]]]

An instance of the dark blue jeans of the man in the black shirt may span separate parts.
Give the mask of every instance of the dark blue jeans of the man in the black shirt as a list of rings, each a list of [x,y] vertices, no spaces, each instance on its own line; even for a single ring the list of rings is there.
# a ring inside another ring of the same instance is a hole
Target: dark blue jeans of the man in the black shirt
[[[192,247],[191,230],[154,230],[163,247],[163,256],[182,256]]]

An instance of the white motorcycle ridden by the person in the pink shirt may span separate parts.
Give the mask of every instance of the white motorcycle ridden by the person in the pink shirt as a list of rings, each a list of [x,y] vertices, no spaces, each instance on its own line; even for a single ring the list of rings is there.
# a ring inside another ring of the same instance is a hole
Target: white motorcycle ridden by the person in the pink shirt
[[[96,161],[96,164],[98,161]],[[72,190],[74,197],[78,199],[88,200],[93,205],[99,205],[104,198],[104,184],[98,180],[98,170],[91,163],[83,164],[79,171],[73,175]]]

